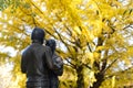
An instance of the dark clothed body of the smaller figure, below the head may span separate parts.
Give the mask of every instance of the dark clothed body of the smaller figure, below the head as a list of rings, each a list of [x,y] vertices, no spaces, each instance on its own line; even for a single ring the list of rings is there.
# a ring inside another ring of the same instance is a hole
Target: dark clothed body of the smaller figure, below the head
[[[50,72],[50,88],[59,88],[59,78],[58,76],[62,76],[63,74],[63,61],[55,53],[52,56],[54,63],[54,70]]]

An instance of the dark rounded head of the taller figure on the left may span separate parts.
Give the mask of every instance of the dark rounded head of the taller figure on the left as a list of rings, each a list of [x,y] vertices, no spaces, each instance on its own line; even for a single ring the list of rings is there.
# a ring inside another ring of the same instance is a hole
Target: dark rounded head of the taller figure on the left
[[[45,36],[45,33],[40,28],[34,28],[32,33],[31,33],[31,40],[32,41],[37,40],[37,41],[43,43],[44,36]]]

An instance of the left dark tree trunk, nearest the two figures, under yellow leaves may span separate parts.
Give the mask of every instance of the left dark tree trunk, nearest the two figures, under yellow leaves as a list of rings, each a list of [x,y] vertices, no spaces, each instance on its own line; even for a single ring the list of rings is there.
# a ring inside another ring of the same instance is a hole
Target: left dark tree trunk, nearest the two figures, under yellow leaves
[[[76,73],[78,73],[76,88],[84,88],[83,67],[82,66],[78,67]]]

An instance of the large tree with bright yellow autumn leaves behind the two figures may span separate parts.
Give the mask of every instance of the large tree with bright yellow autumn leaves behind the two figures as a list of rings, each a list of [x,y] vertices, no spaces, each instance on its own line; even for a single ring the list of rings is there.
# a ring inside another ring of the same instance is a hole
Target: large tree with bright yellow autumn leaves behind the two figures
[[[133,82],[132,0],[1,0],[1,3],[0,45],[18,52],[11,62],[21,82],[25,80],[18,67],[21,51],[31,43],[34,26],[44,29],[47,38],[57,40],[57,53],[65,64],[61,88],[119,88]]]

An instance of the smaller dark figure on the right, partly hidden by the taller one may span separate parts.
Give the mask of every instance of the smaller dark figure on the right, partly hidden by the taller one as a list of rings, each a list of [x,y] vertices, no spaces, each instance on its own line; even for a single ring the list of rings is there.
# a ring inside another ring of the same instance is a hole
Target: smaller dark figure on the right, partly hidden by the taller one
[[[55,41],[54,40],[48,40],[47,46],[50,46],[52,51],[52,59],[53,64],[57,67],[55,70],[50,72],[50,88],[59,88],[59,78],[58,76],[61,76],[63,74],[63,61],[62,58],[55,53]]]

